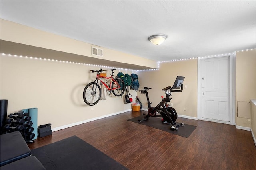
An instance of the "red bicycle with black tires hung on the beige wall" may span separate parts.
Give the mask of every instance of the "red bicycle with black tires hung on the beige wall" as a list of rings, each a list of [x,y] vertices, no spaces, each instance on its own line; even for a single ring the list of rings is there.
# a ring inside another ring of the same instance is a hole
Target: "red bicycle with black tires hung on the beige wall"
[[[98,84],[99,81],[101,84],[103,84],[107,88],[108,92],[110,92],[110,96],[111,96],[111,93],[113,93],[115,96],[122,96],[124,94],[124,91],[126,88],[124,80],[114,76],[114,70],[116,69],[114,68],[110,70],[111,71],[110,77],[100,75],[100,73],[102,73],[103,71],[106,71],[106,70],[102,70],[102,68],[100,68],[100,70],[90,70],[90,72],[92,73],[96,72],[97,76],[94,82],[90,82],[84,88],[83,98],[86,104],[93,106],[99,102],[101,97],[101,92],[102,92],[100,85]]]

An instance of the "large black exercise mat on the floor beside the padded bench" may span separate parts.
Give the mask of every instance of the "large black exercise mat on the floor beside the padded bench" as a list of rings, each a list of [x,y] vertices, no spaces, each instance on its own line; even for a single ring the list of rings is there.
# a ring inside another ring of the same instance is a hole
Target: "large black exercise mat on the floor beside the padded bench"
[[[77,136],[32,149],[46,170],[128,170]]]

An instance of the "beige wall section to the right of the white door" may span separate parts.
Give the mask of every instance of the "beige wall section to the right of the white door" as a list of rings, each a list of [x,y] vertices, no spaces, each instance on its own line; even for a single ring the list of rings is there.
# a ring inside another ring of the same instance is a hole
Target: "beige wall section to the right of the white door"
[[[250,99],[256,98],[256,50],[236,53],[236,125],[251,127]],[[243,112],[243,114],[241,114]]]

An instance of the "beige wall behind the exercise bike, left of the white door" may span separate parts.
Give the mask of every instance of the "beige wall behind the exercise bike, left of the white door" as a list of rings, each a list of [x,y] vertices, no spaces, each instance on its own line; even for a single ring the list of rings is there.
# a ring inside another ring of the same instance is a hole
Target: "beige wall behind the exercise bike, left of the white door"
[[[147,86],[152,106],[156,106],[164,96],[163,88],[172,86],[177,76],[184,76],[184,86],[188,88],[182,92],[172,92],[174,109],[178,115],[197,118],[197,59],[160,63],[159,70],[139,72],[140,89]],[[144,109],[148,108],[146,95],[138,92],[138,97]],[[187,111],[184,111],[187,107]]]

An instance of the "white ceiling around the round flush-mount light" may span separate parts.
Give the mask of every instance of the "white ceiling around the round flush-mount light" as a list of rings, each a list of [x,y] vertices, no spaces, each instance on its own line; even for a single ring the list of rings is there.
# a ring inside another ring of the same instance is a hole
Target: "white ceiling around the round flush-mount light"
[[[0,1],[0,17],[166,61],[256,48],[256,1]],[[163,33],[153,45],[148,37]]]

